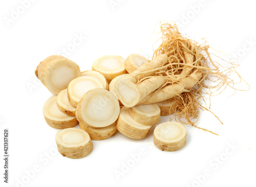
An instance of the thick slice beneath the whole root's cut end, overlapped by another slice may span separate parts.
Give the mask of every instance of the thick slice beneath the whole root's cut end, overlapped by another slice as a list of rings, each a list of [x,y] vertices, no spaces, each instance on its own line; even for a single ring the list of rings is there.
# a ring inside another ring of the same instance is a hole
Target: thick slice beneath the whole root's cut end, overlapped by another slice
[[[129,115],[129,108],[122,107],[117,120],[117,130],[127,137],[144,138],[152,126],[140,124]]]

